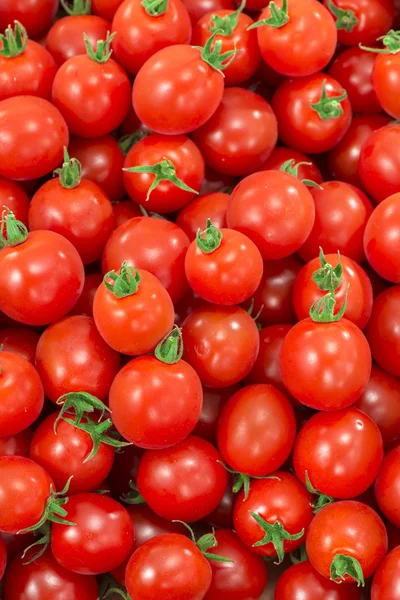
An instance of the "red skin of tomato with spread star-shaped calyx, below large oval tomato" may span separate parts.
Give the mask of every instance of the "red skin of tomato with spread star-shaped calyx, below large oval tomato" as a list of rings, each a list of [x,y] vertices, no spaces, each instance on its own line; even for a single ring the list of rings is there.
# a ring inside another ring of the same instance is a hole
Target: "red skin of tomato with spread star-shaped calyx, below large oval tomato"
[[[197,146],[186,136],[153,134],[135,144],[125,158],[124,168],[155,165],[164,159],[171,160],[176,176],[194,190],[200,190],[204,177],[204,160]],[[155,175],[124,171],[124,185],[131,199],[143,205],[148,212],[165,214],[180,210],[196,194],[176,187],[170,181],[161,181],[146,199]]]

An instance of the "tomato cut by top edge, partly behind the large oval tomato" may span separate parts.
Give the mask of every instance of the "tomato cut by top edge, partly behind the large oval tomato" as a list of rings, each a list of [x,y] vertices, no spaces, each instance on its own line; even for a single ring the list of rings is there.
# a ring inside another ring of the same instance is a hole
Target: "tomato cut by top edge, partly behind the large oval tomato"
[[[113,50],[129,73],[136,75],[159,50],[190,42],[192,26],[181,0],[168,0],[165,10],[159,11],[152,9],[151,2],[124,0],[114,15],[112,31],[117,36]]]

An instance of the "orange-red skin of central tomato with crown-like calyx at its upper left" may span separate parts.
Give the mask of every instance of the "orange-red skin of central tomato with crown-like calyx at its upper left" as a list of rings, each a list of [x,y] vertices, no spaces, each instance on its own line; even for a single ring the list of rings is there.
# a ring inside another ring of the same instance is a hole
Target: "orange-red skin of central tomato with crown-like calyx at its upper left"
[[[117,298],[104,283],[93,303],[96,327],[106,343],[129,356],[147,354],[174,324],[174,305],[162,284],[148,271],[138,269],[138,291]]]

